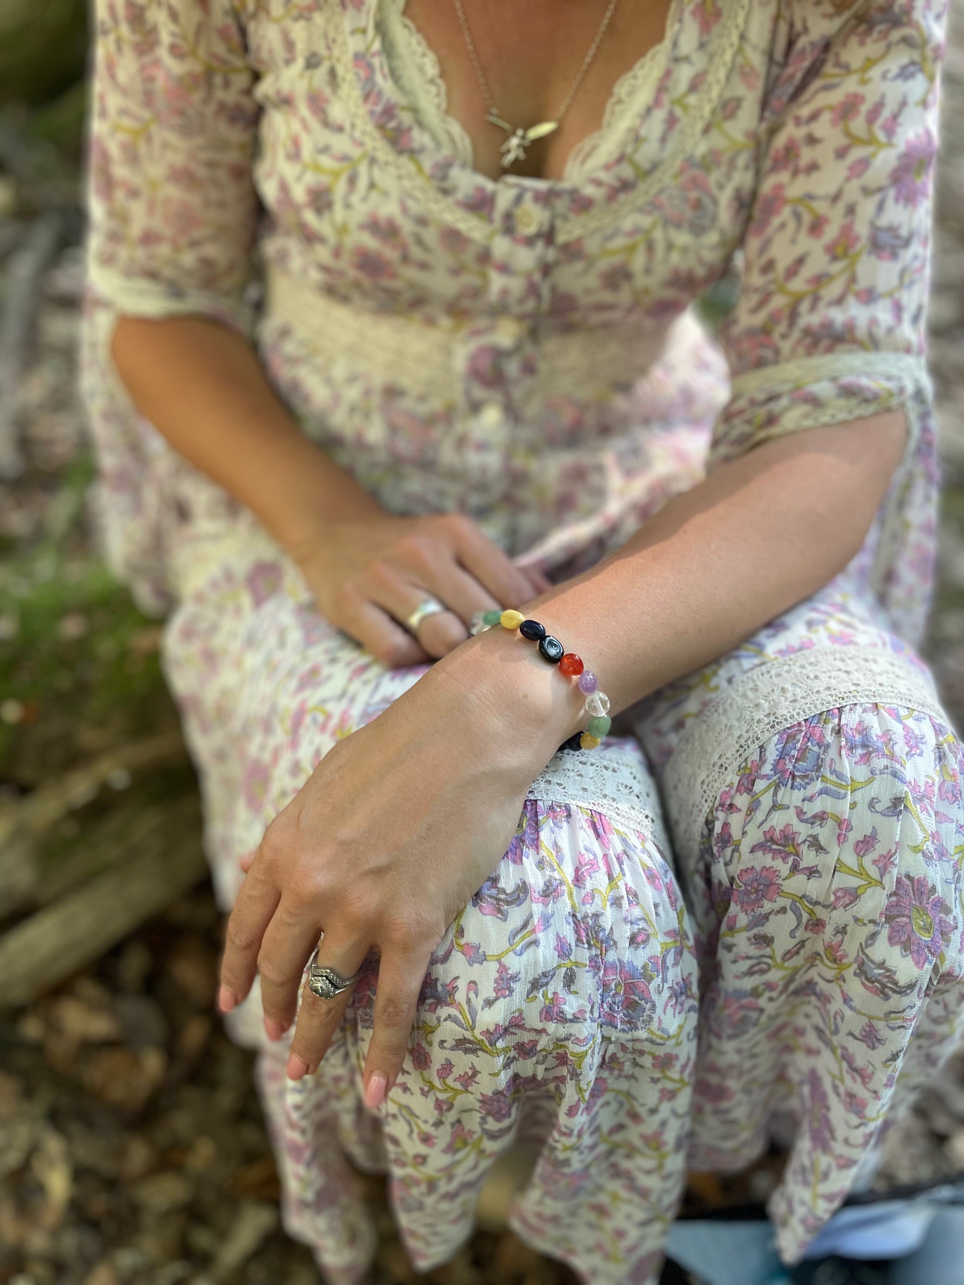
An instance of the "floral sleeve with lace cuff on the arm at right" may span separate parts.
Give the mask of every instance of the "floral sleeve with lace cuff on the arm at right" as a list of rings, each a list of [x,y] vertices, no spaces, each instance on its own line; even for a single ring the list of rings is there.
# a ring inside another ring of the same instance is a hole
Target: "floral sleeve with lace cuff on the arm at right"
[[[897,407],[919,436],[945,13],[870,0],[821,48],[832,9],[794,6],[801,53],[772,95],[740,298],[720,332],[731,396],[712,464]]]

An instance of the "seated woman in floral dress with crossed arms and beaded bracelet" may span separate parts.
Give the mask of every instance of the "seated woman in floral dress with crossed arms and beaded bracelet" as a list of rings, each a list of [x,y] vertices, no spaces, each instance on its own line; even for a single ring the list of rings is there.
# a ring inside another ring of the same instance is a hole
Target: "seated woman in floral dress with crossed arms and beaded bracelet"
[[[961,756],[914,651],[942,21],[99,5],[107,536],[176,604],[221,1007],[330,1281],[373,1253],[348,1162],[427,1268],[535,1142],[513,1227],[616,1285],[688,1163],[778,1130],[792,1262],[959,1036]],[[717,346],[685,308],[736,260]],[[608,713],[470,636],[515,608]]]

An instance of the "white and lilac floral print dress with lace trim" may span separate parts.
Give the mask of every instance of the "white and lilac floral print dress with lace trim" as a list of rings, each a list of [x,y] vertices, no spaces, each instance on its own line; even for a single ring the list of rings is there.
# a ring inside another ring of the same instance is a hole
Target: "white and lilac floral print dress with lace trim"
[[[942,0],[675,0],[558,181],[473,168],[404,0],[99,0],[85,380],[104,529],[197,759],[219,897],[387,671],[134,412],[118,314],[249,333],[306,433],[391,511],[460,509],[562,578],[707,469],[902,409],[833,583],[533,781],[450,925],[405,1073],[361,1100],[374,966],[314,1077],[260,1078],[287,1226],[334,1285],[389,1174],[420,1268],[494,1160],[594,1285],[654,1281],[688,1164],[789,1144],[798,1258],[961,1033],[960,747],[914,646],[936,499],[924,357]],[[257,252],[253,254],[253,252]],[[256,265],[256,266],[254,266]],[[716,339],[688,305],[726,274]],[[788,541],[808,537],[787,497]],[[733,550],[740,556],[739,547]],[[261,1045],[254,993],[230,1015]]]

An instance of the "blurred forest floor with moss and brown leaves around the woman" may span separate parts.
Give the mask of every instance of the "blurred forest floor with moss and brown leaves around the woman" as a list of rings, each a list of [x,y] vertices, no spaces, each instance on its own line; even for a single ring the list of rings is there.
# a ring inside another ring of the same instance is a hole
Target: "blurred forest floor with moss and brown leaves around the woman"
[[[931,311],[945,491],[927,655],[964,727],[964,0],[952,35]],[[24,280],[37,301],[23,360],[8,361],[10,384],[0,387],[0,423],[13,416],[24,461],[15,481],[0,482],[0,839],[51,781],[118,756],[36,837],[44,870],[195,794],[180,753],[152,772],[125,766],[127,747],[176,738],[177,720],[159,625],[96,553],[76,389],[80,235],[75,176],[42,144],[24,143],[17,113],[0,114],[0,310]],[[0,378],[5,342],[9,357],[19,341],[0,324]],[[0,1013],[0,1285],[319,1281],[307,1250],[280,1230],[252,1058],[229,1043],[212,1009],[220,934],[202,882],[63,984]],[[879,1181],[961,1171],[959,1059],[893,1131]],[[380,1285],[571,1280],[499,1231],[478,1232],[451,1264],[416,1277],[380,1182],[364,1181],[382,1236]],[[690,1201],[760,1199],[772,1181],[767,1165],[726,1183],[704,1177]]]

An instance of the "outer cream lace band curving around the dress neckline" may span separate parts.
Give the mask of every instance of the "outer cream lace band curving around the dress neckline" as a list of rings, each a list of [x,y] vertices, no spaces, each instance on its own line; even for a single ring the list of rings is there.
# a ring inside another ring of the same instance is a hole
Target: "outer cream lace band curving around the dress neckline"
[[[370,0],[374,5],[375,0]],[[685,4],[686,0],[681,0]],[[369,149],[384,164],[389,166],[398,180],[400,186],[407,191],[413,200],[422,204],[437,218],[445,221],[450,227],[455,227],[470,240],[485,244],[492,235],[492,225],[488,212],[478,212],[459,202],[454,195],[441,190],[436,180],[427,172],[424,164],[418,158],[401,154],[378,128],[369,114],[365,99],[361,93],[359,77],[355,71],[350,31],[352,14],[346,12],[347,0],[341,4],[325,6],[325,18],[329,23],[332,59],[342,86],[348,95],[347,108],[364,136]],[[733,60],[736,55],[739,42],[749,12],[751,0],[731,0],[726,5],[724,17],[713,35],[711,46],[707,50],[708,69],[703,84],[697,94],[697,102],[686,116],[685,121],[674,131],[666,155],[650,171],[649,176],[627,185],[626,190],[616,199],[591,199],[586,203],[572,203],[573,208],[559,215],[557,221],[557,244],[576,240],[580,236],[603,230],[618,222],[632,206],[645,204],[667,181],[679,163],[693,150],[698,137],[706,130],[710,117],[719,103],[726,78],[730,75]],[[470,171],[470,177],[476,186],[476,195],[479,188],[488,188],[494,191],[500,184],[513,181],[512,176],[500,180],[488,179],[483,173]],[[531,182],[531,180],[515,180]],[[608,193],[612,198],[612,191]]]

